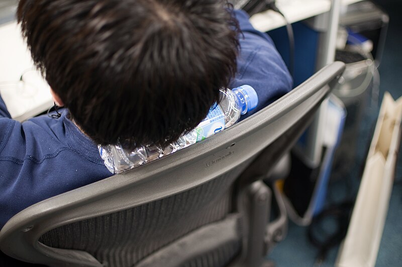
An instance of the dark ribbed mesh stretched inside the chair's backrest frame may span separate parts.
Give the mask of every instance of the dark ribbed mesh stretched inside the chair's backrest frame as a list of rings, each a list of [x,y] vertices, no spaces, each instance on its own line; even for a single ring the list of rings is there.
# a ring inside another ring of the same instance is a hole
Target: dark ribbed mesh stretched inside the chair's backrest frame
[[[40,241],[50,247],[86,251],[106,266],[134,266],[187,233],[224,219],[232,211],[234,181],[246,165],[165,199],[60,226]],[[185,266],[223,266],[239,249],[238,244],[225,245]]]

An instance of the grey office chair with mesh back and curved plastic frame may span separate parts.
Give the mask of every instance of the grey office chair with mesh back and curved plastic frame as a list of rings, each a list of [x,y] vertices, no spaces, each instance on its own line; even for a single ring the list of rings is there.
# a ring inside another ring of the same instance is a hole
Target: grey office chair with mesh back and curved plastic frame
[[[262,181],[343,70],[334,62],[220,134],[28,207],[1,230],[1,250],[50,266],[263,265],[283,227],[269,223]]]

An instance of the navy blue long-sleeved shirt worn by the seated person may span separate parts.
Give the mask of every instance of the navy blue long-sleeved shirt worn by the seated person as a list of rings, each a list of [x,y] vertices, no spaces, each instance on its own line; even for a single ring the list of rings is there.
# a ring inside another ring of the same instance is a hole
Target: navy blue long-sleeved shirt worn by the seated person
[[[243,36],[238,73],[231,87],[249,84],[258,106],[241,119],[291,90],[292,80],[268,35],[256,31],[243,11],[235,11]],[[112,175],[97,145],[63,111],[59,119],[11,119],[0,96],[0,228],[23,209]]]

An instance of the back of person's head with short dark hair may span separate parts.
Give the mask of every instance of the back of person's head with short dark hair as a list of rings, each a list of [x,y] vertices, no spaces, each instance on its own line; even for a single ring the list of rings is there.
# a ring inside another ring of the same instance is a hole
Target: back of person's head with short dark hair
[[[176,140],[236,71],[222,0],[21,0],[18,20],[35,64],[99,144]]]

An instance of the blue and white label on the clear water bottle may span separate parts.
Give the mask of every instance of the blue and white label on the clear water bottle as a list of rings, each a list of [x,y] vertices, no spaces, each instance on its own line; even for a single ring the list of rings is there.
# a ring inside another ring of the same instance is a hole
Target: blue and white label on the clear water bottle
[[[223,129],[225,129],[225,116],[221,108],[215,104],[211,107],[207,117],[195,128],[197,142],[219,133]]]

